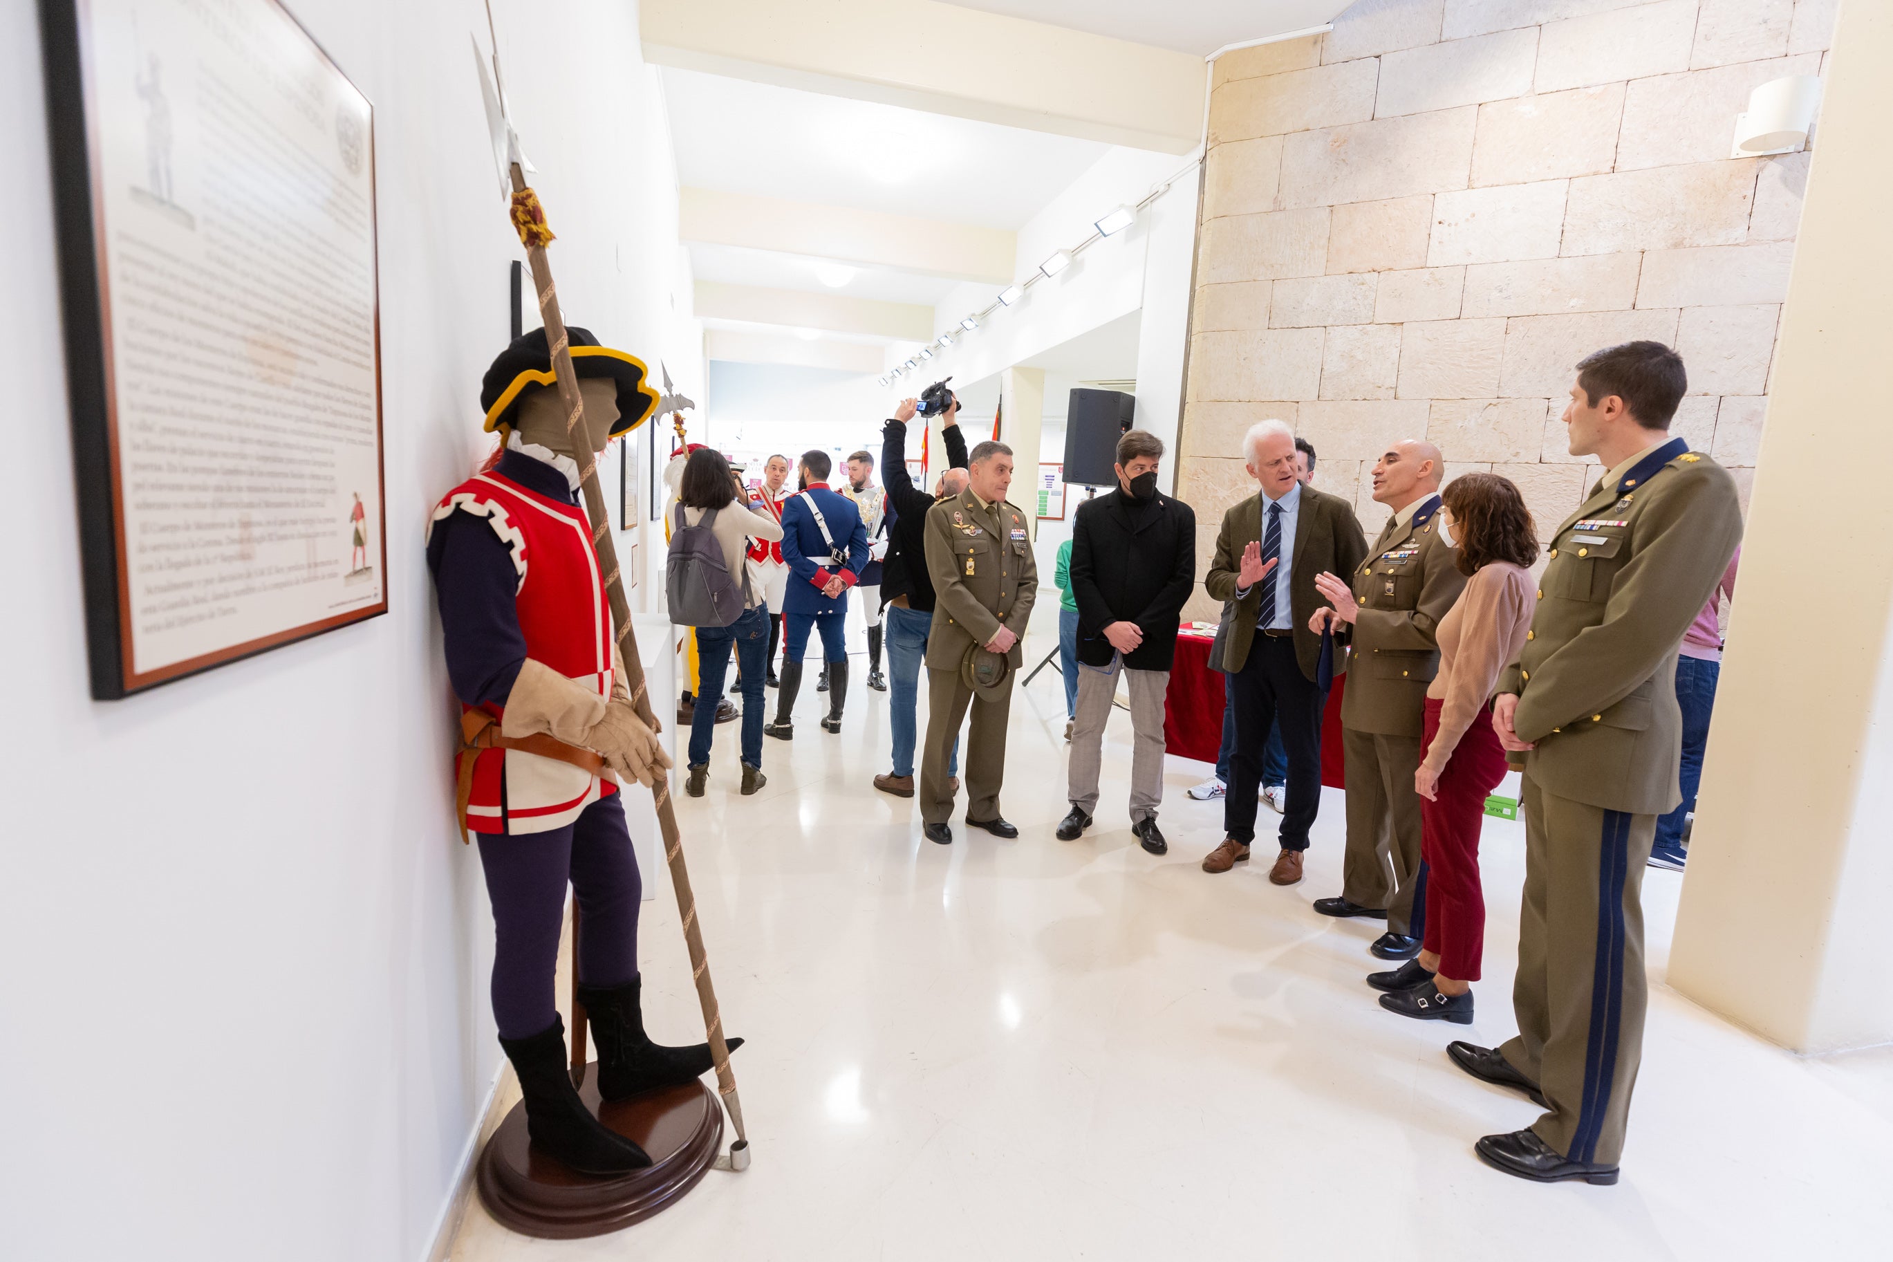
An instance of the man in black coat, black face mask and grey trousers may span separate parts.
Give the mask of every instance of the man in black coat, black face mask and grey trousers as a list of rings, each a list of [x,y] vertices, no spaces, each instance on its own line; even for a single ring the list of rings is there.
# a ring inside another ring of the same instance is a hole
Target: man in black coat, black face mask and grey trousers
[[[1196,583],[1196,515],[1157,494],[1164,443],[1132,429],[1117,441],[1117,490],[1077,505],[1071,596],[1077,600],[1077,719],[1071,728],[1071,814],[1058,840],[1077,840],[1098,806],[1104,723],[1117,674],[1130,691],[1130,831],[1143,850],[1170,846],[1157,831],[1164,798],[1164,694],[1177,621]]]

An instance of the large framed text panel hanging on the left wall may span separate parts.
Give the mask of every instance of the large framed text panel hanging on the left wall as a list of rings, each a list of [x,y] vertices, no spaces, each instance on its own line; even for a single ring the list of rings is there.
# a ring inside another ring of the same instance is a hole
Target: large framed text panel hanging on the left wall
[[[388,611],[375,114],[276,0],[40,0],[93,696]]]

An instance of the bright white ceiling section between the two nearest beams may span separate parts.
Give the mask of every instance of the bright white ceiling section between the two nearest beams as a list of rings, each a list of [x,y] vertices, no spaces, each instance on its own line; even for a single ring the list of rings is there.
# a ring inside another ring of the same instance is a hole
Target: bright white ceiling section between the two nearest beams
[[[678,182],[1017,229],[1109,146],[663,70]]]

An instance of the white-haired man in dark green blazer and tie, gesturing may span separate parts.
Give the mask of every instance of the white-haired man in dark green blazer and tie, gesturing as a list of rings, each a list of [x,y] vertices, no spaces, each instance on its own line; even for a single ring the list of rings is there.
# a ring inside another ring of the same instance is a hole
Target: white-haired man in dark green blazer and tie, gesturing
[[[1242,439],[1249,477],[1261,494],[1223,515],[1215,560],[1204,577],[1210,596],[1236,602],[1223,643],[1230,704],[1236,708],[1236,755],[1223,798],[1223,844],[1204,857],[1204,872],[1247,863],[1255,840],[1255,795],[1263,780],[1268,727],[1282,721],[1289,755],[1282,851],[1268,880],[1302,878],[1308,829],[1321,808],[1321,708],[1327,689],[1316,683],[1321,636],[1308,626],[1327,602],[1316,575],[1353,573],[1367,556],[1367,535],[1353,505],[1295,477],[1295,431],[1280,420],[1251,426]]]

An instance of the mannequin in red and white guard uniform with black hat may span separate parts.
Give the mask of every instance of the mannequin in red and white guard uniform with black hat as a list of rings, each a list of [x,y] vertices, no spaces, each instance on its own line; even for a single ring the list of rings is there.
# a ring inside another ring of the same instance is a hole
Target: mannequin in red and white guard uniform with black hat
[[[644,384],[644,363],[585,329],[566,333],[585,395],[583,441],[604,450],[649,414],[657,394]],[[581,1173],[613,1175],[651,1158],[574,1090],[553,971],[570,882],[600,1094],[623,1099],[712,1067],[706,1044],[668,1048],[644,1033],[642,882],[617,781],[655,787],[670,759],[625,692],[545,329],[494,359],[481,407],[505,448],[428,522],[447,675],[462,708],[462,838],[479,838],[496,938],[492,1012],[532,1143]]]

